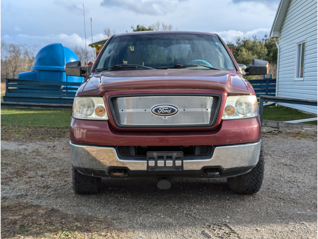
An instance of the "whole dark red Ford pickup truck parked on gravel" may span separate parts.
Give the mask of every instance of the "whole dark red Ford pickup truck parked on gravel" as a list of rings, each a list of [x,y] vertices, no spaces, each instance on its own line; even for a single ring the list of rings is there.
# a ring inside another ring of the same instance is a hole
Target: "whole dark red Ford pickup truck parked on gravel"
[[[236,63],[216,34],[134,32],[107,40],[73,103],[73,189],[97,193],[102,177],[227,178],[236,193],[258,192],[264,156],[255,92],[245,75],[268,62]]]

